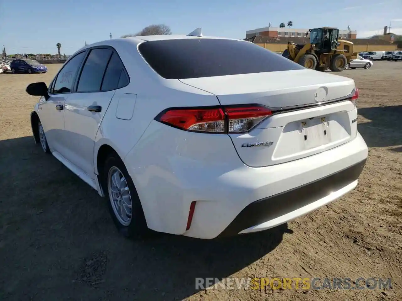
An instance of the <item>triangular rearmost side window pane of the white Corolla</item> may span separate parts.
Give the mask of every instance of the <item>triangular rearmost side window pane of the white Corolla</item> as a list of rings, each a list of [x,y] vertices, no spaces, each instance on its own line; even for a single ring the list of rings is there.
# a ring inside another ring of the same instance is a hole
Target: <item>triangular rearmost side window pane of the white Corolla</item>
[[[123,62],[117,53],[114,52],[109,64],[107,65],[105,77],[103,77],[102,87],[100,87],[100,90],[110,91],[127,85],[127,75],[123,69]]]

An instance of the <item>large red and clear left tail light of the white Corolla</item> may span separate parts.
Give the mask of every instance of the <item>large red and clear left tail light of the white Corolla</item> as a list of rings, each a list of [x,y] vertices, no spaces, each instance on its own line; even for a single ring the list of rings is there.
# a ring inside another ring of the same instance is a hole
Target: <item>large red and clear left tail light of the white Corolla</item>
[[[156,116],[155,120],[194,132],[239,133],[248,132],[271,116],[265,106],[223,106],[214,108],[173,108]]]

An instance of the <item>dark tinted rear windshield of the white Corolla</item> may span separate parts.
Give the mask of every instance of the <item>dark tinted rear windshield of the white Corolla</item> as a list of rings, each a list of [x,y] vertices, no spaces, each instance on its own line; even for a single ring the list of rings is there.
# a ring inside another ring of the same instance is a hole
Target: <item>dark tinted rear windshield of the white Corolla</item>
[[[238,40],[148,41],[138,49],[148,64],[166,79],[304,69],[263,47]]]

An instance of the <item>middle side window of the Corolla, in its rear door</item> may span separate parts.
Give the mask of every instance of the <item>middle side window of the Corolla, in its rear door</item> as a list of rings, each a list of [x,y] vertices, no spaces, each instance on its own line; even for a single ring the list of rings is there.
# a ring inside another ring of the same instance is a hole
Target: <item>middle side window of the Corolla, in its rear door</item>
[[[77,92],[99,91],[111,49],[92,49],[86,59],[78,81]]]

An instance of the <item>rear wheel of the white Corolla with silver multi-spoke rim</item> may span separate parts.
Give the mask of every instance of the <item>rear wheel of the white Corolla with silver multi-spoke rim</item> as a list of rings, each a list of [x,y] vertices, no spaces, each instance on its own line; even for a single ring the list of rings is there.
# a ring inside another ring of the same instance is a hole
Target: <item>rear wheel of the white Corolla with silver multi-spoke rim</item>
[[[107,157],[102,178],[109,213],[119,232],[129,238],[149,236],[151,230],[148,229],[137,190],[116,153]]]

